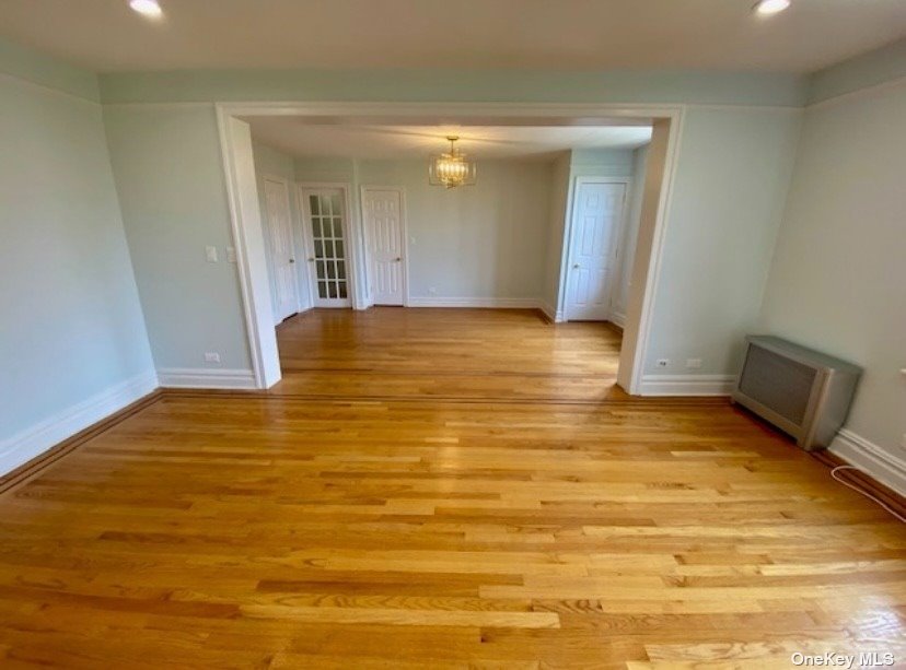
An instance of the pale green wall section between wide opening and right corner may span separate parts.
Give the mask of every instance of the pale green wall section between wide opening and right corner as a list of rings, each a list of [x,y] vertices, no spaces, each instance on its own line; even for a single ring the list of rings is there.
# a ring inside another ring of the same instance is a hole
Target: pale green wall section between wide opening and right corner
[[[686,114],[646,374],[735,374],[752,332],[783,212],[801,114]],[[670,358],[666,369],[658,358]]]

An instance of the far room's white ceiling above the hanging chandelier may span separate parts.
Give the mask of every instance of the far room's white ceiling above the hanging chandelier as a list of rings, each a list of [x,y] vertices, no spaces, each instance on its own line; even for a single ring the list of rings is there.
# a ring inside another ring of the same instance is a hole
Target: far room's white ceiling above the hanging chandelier
[[[635,149],[651,139],[649,126],[335,126],[299,117],[247,117],[252,137],[294,156],[421,158],[446,151],[449,134],[480,158],[548,158],[567,149]]]

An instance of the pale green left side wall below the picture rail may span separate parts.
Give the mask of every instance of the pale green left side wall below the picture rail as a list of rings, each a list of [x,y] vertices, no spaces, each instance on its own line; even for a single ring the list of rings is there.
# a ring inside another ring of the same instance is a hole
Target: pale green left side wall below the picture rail
[[[2,75],[0,137],[2,472],[36,455],[15,434],[154,371],[101,107]]]

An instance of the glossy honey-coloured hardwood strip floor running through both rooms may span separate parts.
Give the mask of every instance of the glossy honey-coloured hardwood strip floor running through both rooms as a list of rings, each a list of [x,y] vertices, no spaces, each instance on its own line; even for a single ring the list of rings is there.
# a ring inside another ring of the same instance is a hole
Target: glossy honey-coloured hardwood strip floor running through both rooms
[[[0,496],[0,666],[906,661],[906,533],[722,399],[528,312],[313,312]]]

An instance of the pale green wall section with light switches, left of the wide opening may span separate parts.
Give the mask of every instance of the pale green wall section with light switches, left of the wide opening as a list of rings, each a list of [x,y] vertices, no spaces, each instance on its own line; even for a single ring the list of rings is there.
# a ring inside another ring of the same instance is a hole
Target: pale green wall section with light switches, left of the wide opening
[[[158,369],[251,369],[213,106],[113,105],[104,120]]]

